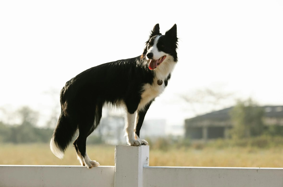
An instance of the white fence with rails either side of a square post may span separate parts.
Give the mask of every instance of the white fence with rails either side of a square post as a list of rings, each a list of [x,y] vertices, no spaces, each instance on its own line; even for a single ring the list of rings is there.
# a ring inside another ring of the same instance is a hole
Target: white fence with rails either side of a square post
[[[115,166],[0,165],[0,187],[25,186],[282,187],[283,168],[150,167],[149,146],[119,145]]]

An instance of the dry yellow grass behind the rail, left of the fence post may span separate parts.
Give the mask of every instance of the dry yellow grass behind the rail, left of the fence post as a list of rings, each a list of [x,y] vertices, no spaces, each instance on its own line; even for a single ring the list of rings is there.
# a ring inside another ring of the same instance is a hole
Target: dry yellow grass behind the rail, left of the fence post
[[[114,165],[115,146],[87,146],[87,154],[100,165]],[[1,144],[0,164],[11,165],[80,165],[76,151],[70,145],[64,158],[58,159],[49,144]]]

